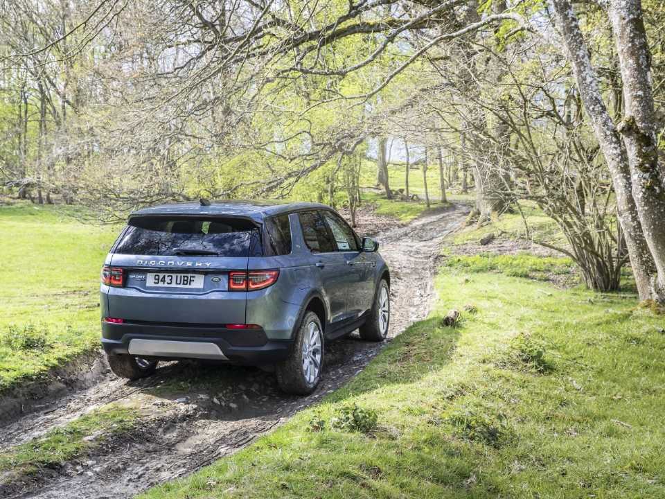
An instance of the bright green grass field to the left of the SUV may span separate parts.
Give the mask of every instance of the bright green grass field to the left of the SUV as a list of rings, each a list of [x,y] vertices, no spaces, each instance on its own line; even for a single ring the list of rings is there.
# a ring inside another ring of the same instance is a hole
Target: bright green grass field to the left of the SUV
[[[99,272],[117,228],[77,216],[0,207],[0,392],[98,347]]]

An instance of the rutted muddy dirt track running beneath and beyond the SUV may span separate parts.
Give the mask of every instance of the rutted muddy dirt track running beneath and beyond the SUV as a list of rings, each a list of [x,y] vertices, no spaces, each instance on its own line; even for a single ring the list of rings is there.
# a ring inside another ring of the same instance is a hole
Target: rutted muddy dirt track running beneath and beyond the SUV
[[[391,269],[389,337],[429,312],[441,240],[459,227],[466,213],[468,207],[456,204],[377,234]],[[139,427],[105,440],[80,461],[0,487],[0,497],[132,497],[247,445],[355,376],[384,344],[362,342],[355,335],[330,344],[323,381],[308,397],[285,396],[272,374],[246,367],[173,362],[137,383],[107,374],[94,387],[1,428],[0,450],[113,401],[139,408]]]

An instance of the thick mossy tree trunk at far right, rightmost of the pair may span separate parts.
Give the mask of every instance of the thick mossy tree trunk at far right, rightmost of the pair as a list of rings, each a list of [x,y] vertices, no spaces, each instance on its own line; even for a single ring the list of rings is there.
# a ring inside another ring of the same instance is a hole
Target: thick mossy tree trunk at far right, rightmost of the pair
[[[665,302],[665,183],[658,168],[651,54],[640,0],[612,0],[610,19],[623,80],[624,118],[632,197],[657,270],[655,298]]]

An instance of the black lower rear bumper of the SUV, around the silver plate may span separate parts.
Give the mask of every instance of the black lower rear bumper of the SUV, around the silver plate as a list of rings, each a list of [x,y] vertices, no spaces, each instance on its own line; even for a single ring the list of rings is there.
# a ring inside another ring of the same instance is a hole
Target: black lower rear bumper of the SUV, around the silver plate
[[[205,325],[170,325],[170,324],[110,324],[102,322],[102,346],[110,355],[130,353],[132,340],[148,342],[166,342],[171,346],[183,343],[202,343],[223,353],[220,360],[234,364],[265,365],[285,360],[292,347],[292,340],[268,340],[263,329],[226,329]],[[139,342],[134,342],[136,345]],[[169,349],[168,356],[156,355],[156,358],[212,358],[201,348],[188,348],[183,345],[181,352]],[[199,352],[199,353],[197,353]]]

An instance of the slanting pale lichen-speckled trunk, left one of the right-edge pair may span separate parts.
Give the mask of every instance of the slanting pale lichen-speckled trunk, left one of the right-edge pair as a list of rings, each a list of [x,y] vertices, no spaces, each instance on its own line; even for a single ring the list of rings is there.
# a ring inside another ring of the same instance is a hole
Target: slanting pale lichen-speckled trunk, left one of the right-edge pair
[[[642,232],[635,199],[632,197],[628,155],[617,129],[612,123],[592,67],[577,17],[569,0],[552,0],[556,24],[562,33],[562,42],[573,68],[583,105],[592,121],[594,133],[610,169],[617,212],[640,299],[653,297],[650,277],[655,265]]]

